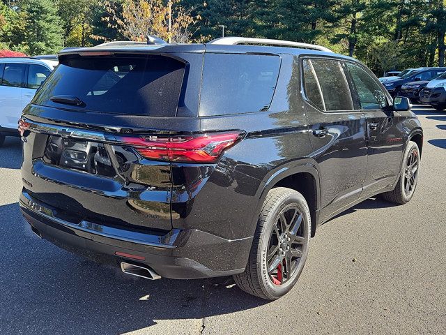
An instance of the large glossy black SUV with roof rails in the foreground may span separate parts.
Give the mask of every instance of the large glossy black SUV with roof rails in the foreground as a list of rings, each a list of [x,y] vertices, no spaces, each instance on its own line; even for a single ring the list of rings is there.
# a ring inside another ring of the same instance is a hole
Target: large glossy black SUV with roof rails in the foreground
[[[59,61],[20,121],[22,213],[39,237],[127,274],[233,275],[277,299],[318,225],[417,186],[408,99],[323,47],[117,43]]]

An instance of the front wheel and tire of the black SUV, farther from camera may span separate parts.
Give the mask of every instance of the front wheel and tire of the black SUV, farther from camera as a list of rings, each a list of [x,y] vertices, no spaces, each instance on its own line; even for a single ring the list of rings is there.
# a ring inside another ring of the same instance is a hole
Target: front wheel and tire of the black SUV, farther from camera
[[[410,165],[413,165],[413,167],[410,168]],[[409,202],[418,184],[419,171],[420,149],[415,142],[410,141],[407,144],[406,151],[404,151],[398,183],[393,191],[382,193],[382,198],[395,204],[406,204]]]

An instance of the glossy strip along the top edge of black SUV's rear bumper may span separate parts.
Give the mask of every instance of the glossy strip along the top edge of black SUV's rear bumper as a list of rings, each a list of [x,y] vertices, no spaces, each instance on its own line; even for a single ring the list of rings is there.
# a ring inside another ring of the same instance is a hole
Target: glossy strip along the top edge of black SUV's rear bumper
[[[23,198],[26,199],[24,201]],[[116,239],[118,241],[125,241],[125,242],[131,242],[135,244],[143,244],[144,246],[154,246],[157,248],[176,248],[176,246],[173,245],[174,241],[176,241],[176,238],[178,237],[178,234],[180,230],[172,230],[171,233],[169,232],[167,235],[164,236],[155,236],[150,234],[144,234],[141,232],[128,232],[126,230],[121,230],[117,228],[107,227],[105,225],[98,225],[97,223],[91,223],[88,221],[81,221],[78,224],[70,223],[68,221],[62,220],[61,218],[56,218],[54,216],[54,213],[52,209],[49,209],[47,207],[44,207],[41,204],[38,204],[34,200],[31,199],[31,197],[28,195],[28,193],[23,192],[22,197],[20,197],[20,205],[26,209],[29,209],[30,211],[33,211],[33,213],[38,214],[39,216],[42,216],[43,218],[46,218],[47,220],[53,221],[55,223],[59,223],[60,225],[63,225],[67,228],[74,229],[74,230],[80,230],[82,232],[86,232],[89,234],[95,234],[99,235],[101,237],[107,237],[109,239]],[[137,237],[125,237],[123,235],[131,233],[132,236]],[[156,243],[154,241],[148,241],[148,237],[151,237],[151,239],[160,239],[159,243]],[[84,237],[86,238],[86,237]],[[169,243],[171,244],[163,244],[162,239],[167,238],[169,240]]]

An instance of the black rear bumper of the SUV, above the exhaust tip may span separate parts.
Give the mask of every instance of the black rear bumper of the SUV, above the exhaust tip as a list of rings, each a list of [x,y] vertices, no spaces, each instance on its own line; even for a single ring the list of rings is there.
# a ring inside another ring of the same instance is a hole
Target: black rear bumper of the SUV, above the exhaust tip
[[[171,230],[153,234],[118,230],[88,223],[70,223],[54,216],[52,209],[20,196],[22,214],[41,237],[56,246],[93,260],[118,266],[121,262],[148,265],[167,278],[190,279],[229,276],[245,270],[252,237],[223,239],[200,230]],[[117,256],[136,255],[139,260]]]

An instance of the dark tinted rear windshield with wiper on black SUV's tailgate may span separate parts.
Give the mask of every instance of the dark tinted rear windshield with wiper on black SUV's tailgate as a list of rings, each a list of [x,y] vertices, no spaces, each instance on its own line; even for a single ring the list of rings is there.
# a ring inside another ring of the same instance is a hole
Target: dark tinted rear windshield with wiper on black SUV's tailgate
[[[53,71],[33,103],[91,112],[175,116],[184,68],[182,62],[161,56],[76,55]],[[80,102],[60,99],[66,96]]]

